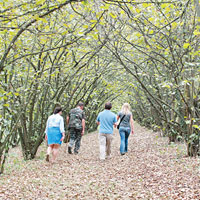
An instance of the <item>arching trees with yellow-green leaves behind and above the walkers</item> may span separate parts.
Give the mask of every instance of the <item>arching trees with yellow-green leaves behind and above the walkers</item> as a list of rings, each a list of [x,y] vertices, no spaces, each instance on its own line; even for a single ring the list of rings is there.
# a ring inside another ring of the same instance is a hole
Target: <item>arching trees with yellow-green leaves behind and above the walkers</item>
[[[0,1],[0,163],[20,142],[34,158],[56,105],[85,102],[86,126],[106,101],[199,153],[198,0]]]

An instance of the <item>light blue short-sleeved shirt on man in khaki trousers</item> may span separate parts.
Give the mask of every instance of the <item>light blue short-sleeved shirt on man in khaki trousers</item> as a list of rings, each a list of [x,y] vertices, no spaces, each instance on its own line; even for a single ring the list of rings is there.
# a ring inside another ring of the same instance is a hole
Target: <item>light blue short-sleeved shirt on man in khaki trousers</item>
[[[99,133],[112,134],[113,125],[117,122],[117,117],[110,110],[104,110],[99,113],[97,122],[100,122]]]

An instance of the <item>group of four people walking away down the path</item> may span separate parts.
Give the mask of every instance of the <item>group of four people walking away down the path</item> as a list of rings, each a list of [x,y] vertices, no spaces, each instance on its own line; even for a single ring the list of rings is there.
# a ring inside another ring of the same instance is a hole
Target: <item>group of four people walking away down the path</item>
[[[124,155],[128,151],[128,138],[130,134],[134,134],[133,116],[130,111],[130,105],[124,103],[121,111],[116,115],[111,111],[112,104],[107,102],[104,111],[97,116],[97,124],[99,125],[99,149],[100,160],[105,160],[111,156],[111,143],[113,139],[114,127],[119,129],[121,138],[120,154]],[[69,154],[78,154],[81,138],[85,132],[85,113],[84,104],[78,103],[76,108],[70,110],[67,116],[66,123],[69,129],[69,143],[67,150]],[[64,119],[62,115],[62,108],[56,107],[54,113],[49,116],[46,129],[45,139],[47,140],[48,148],[46,161],[56,162],[59,147],[65,138]]]

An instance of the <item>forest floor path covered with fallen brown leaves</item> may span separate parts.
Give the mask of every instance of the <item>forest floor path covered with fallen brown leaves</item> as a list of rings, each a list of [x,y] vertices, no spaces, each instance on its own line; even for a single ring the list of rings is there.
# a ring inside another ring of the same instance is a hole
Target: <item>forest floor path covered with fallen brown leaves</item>
[[[69,155],[63,144],[57,164],[45,161],[45,144],[31,161],[23,161],[15,148],[0,176],[0,199],[200,199],[200,159],[186,157],[185,145],[169,145],[138,124],[126,155],[120,155],[119,145],[115,130],[112,156],[100,161],[98,134],[88,134],[78,155]]]

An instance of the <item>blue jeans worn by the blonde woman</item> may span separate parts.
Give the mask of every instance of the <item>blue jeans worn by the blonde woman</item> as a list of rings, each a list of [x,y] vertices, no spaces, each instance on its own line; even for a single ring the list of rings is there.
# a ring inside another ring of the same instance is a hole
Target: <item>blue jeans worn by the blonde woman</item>
[[[120,153],[126,153],[128,151],[128,137],[130,135],[130,127],[120,127],[119,134],[121,137]]]

